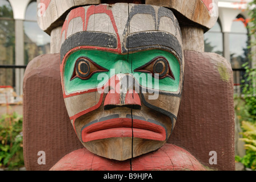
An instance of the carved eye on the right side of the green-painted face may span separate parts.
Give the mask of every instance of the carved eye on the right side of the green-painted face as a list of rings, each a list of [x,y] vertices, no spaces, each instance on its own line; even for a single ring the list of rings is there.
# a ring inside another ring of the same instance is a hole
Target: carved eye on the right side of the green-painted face
[[[173,72],[165,57],[155,57],[153,60],[149,61],[149,63],[135,69],[134,72],[151,73],[154,77],[158,74],[159,79],[170,77],[175,80]]]

